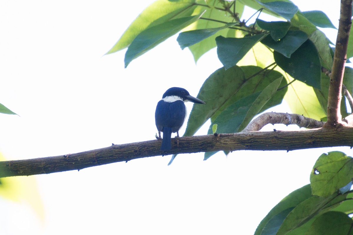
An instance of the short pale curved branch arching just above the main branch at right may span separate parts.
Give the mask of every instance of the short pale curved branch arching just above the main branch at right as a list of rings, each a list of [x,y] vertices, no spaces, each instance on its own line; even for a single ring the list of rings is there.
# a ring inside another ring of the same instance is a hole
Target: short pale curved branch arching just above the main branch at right
[[[263,128],[266,124],[285,124],[285,125],[295,124],[295,125],[298,125],[299,127],[313,129],[313,128],[323,127],[324,122],[321,122],[312,118],[307,118],[299,114],[268,112],[268,113],[263,113],[262,115],[255,118],[241,132],[258,131],[258,130],[261,130],[261,128]]]

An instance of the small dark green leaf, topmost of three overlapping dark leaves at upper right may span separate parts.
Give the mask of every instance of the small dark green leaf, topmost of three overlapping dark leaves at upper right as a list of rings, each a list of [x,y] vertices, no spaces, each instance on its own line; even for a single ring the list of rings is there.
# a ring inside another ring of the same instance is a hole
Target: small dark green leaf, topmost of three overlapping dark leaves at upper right
[[[291,27],[291,22],[288,21],[266,22],[261,19],[256,19],[256,23],[261,29],[270,31],[270,35],[275,41],[284,37],[288,32],[289,27]]]

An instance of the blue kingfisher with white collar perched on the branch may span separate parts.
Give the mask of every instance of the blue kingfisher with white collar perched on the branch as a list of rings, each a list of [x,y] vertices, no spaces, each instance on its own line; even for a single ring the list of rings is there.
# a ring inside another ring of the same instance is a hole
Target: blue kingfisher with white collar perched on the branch
[[[158,138],[161,138],[161,132],[163,132],[162,151],[168,151],[172,148],[172,132],[177,132],[177,137],[179,137],[179,130],[186,119],[184,103],[187,101],[205,104],[204,101],[191,96],[188,91],[180,87],[169,88],[158,102],[155,118]]]

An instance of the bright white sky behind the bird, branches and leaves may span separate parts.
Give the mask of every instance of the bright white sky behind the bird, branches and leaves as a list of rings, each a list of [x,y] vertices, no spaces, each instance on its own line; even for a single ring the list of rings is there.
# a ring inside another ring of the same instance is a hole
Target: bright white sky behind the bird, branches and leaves
[[[222,66],[216,50],[196,66],[175,36],[127,69],[125,50],[103,56],[151,2],[0,2],[0,103],[20,115],[0,115],[7,159],[153,140],[164,91],[179,86],[197,95]],[[338,27],[339,1],[294,4],[322,10]],[[336,41],[336,30],[325,32]],[[273,111],[290,112],[285,104]],[[235,151],[207,161],[184,154],[171,166],[170,156],[157,156],[38,175],[44,221],[25,202],[0,198],[0,234],[253,234],[279,200],[309,183],[318,156],[333,150],[353,155],[349,148]]]

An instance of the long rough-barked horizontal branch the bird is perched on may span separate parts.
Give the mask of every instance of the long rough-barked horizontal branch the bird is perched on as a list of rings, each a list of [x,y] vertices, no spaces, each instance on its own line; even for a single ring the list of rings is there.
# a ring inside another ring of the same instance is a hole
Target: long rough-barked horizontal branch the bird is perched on
[[[107,148],[53,157],[0,162],[0,177],[49,174],[80,170],[142,157],[235,150],[295,150],[353,146],[353,127],[321,128],[301,131],[247,131],[172,138],[172,150],[160,150],[161,141],[113,145]]]

